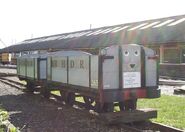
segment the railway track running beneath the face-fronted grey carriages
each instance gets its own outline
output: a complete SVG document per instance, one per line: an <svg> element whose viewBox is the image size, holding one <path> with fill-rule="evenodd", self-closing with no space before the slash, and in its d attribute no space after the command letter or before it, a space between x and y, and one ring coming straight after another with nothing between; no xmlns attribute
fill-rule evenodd
<svg viewBox="0 0 185 132"><path fill-rule="evenodd" d="M6 77L0 77L0 81L7 84L7 85L10 85L11 87L14 87L18 90L22 90L24 91L25 90L25 85L20 83L20 82L17 82L17 81L14 81L12 79L9 79L7 78L8 76ZM61 103L64 104L62 101L61 101L61 98L60 96L57 96L57 95L53 95L51 96L50 100L52 103L60 106ZM75 102L74 106L75 109L79 109L83 112L87 112L87 113L90 113L89 115L91 116L94 116L95 118L97 118L97 120L99 120L100 118L98 117L99 114L96 113L96 112L92 112L89 110L86 110L85 109L85 105L81 102ZM100 123L105 124L105 125L110 125L110 126L115 126L115 127L118 127L120 128L121 130L126 130L126 131L130 131L130 132L143 132L143 131L150 131L150 132L153 132L153 131L158 131L158 132L183 132L183 130L180 130L180 129L177 129L177 128L174 128L174 127L170 127L170 126L167 126L167 125L163 125L163 124L159 124L159 123L155 123L155 122L149 122L149 121L143 121L143 122L134 122L134 123L118 123L118 124L108 124L106 122L104 122L104 120L100 120Z"/></svg>

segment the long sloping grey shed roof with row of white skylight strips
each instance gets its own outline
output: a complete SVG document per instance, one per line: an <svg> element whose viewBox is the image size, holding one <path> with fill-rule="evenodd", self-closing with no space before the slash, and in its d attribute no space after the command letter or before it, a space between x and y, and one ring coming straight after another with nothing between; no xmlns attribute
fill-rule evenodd
<svg viewBox="0 0 185 132"><path fill-rule="evenodd" d="M27 50L100 48L114 44L161 44L185 42L185 15L126 23L71 33L28 39L1 49Z"/></svg>

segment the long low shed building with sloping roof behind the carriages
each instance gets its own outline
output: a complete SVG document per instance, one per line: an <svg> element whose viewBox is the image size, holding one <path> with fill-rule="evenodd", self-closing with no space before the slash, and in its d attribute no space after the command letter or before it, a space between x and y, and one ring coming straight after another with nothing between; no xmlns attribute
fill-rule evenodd
<svg viewBox="0 0 185 132"><path fill-rule="evenodd" d="M0 53L68 49L93 53L110 45L131 43L157 52L161 76L185 78L185 15L28 39L0 49Z"/></svg>

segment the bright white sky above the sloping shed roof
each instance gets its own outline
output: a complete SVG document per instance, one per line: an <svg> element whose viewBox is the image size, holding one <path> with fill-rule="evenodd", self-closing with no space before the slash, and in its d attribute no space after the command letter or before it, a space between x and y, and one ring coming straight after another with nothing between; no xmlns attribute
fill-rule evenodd
<svg viewBox="0 0 185 132"><path fill-rule="evenodd" d="M0 39L8 46L90 24L97 28L182 15L184 5L183 0L0 0Z"/></svg>

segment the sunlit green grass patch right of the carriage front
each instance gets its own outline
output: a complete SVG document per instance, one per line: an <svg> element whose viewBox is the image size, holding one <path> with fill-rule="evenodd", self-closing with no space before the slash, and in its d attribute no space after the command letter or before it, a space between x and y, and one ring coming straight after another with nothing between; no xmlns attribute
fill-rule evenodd
<svg viewBox="0 0 185 132"><path fill-rule="evenodd" d="M155 108L157 119L152 121L185 130L185 97L162 95L157 99L141 99L139 108Z"/></svg>

